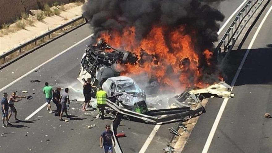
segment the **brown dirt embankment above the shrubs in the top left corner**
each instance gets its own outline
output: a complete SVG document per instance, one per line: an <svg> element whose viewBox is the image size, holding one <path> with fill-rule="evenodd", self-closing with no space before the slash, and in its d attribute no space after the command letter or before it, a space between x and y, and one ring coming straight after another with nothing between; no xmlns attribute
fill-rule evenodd
<svg viewBox="0 0 272 153"><path fill-rule="evenodd" d="M58 2L70 3L76 0L0 0L0 25L4 23L12 23L22 12L31 13L29 10L43 9L47 3L50 6ZM84 0L83 0L84 1Z"/></svg>

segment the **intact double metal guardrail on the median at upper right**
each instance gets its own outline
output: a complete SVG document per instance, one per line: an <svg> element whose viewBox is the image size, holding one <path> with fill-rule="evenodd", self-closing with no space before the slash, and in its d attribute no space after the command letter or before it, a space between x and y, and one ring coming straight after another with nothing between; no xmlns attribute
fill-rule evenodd
<svg viewBox="0 0 272 153"><path fill-rule="evenodd" d="M230 27L225 32L222 39L219 41L219 44L216 47L218 53L227 52L233 48L242 30L249 22L251 17L255 14L257 9L261 6L263 1L264 0L249 0L245 4L244 8L238 13Z"/></svg>

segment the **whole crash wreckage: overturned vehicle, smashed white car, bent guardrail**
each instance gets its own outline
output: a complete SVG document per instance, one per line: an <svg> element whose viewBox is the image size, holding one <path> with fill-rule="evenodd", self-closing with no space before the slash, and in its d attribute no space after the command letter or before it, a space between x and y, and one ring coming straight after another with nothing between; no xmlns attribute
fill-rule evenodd
<svg viewBox="0 0 272 153"><path fill-rule="evenodd" d="M202 106L204 98L232 98L231 87L225 82L213 84L204 89L186 90L169 99L169 108L149 110L145 92L133 79L121 75L118 64L134 64L138 57L129 51L114 49L103 39L97 45L88 45L81 59L78 80L82 83L91 78L96 88L92 88L95 98L97 87L102 86L107 92L107 105L115 112L150 124L165 124L174 121L185 121L205 113ZM157 83L147 87L158 90ZM148 92L151 92L148 91Z"/></svg>

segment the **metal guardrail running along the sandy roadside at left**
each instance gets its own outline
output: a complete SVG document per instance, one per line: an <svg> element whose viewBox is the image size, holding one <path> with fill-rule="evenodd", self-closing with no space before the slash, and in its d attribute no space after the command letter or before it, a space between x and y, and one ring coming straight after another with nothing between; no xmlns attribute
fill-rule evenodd
<svg viewBox="0 0 272 153"><path fill-rule="evenodd" d="M35 45L36 45L36 43L37 43L38 40L40 40L40 39L42 39L42 38L44 38L46 36L48 36L50 38L50 34L52 34L53 32L56 32L56 31L58 31L60 29L63 29L64 27L66 27L66 26L68 26L70 24L74 24L74 22L76 22L76 21L78 21L80 19L84 19L83 16L79 16L78 18L75 18L75 19L73 19L72 21L70 21L68 23L60 25L57 28L54 28L54 29L50 30L49 32L46 32L46 33L44 33L44 34L42 34L42 35L40 35L40 36L38 36L38 37L36 37L36 38L34 38L32 40L29 40L29 41L23 43L22 45L19 45L19 46L15 47L14 49L11 49L10 51L8 51L6 53L3 53L2 55L0 55L0 60L1 59L5 60L6 56L8 56L8 55L10 55L12 53L15 53L18 50L19 50L19 53L21 53L23 47L26 47L26 46L28 46L28 45L30 45L32 43L35 43Z"/></svg>

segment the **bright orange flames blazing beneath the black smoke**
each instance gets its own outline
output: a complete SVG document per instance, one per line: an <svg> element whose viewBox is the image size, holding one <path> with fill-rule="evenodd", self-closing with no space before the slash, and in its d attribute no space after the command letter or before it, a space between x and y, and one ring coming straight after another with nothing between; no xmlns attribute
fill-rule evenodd
<svg viewBox="0 0 272 153"><path fill-rule="evenodd" d="M104 38L114 48L128 50L142 57L143 63L125 65L126 70L121 75L146 73L150 78L156 77L160 84L173 88L202 87L204 84L200 79L199 55L195 52L190 36L194 33L185 34L184 29L185 26L171 30L154 26L145 38L137 40L135 28L130 27L122 32L102 32L100 38ZM142 51L148 57L142 56ZM212 52L205 50L203 55L210 65Z"/></svg>

